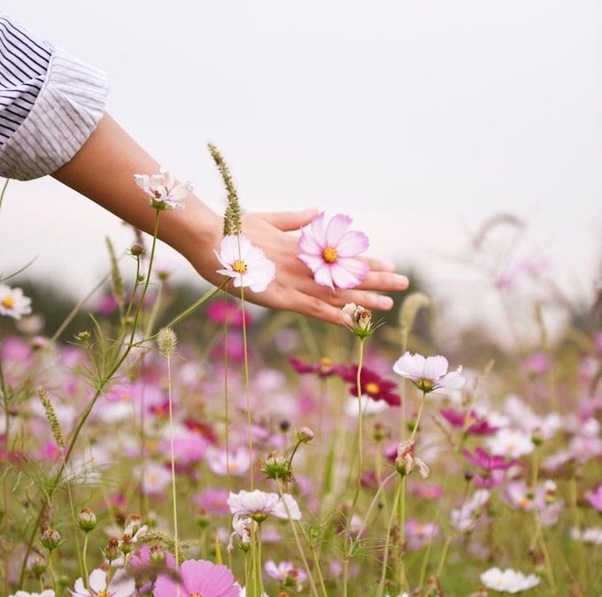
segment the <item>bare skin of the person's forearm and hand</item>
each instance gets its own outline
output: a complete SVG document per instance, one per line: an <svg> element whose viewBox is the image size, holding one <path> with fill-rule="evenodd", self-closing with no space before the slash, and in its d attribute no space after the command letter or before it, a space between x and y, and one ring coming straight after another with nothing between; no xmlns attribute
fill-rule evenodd
<svg viewBox="0 0 602 597"><path fill-rule="evenodd" d="M134 174L158 172L157 161L105 113L73 159L52 176L133 226L152 233L155 210L135 185ZM184 210L161 212L158 238L185 256L203 278L219 286L224 278L216 273L220 264L212 249L220 247L221 218L196 195L189 195L182 203ZM297 235L292 232L311 222L317 213L312 209L243 216L243 233L276 265L276 278L267 289L253 293L246 288L245 300L337 325L351 325L350 316L341 310L347 302L370 310L390 310L393 301L379 293L404 290L408 280L387 262L366 259L370 272L353 289L333 292L316 284L312 272L297 257ZM228 288L240 295L239 289L231 285Z"/></svg>

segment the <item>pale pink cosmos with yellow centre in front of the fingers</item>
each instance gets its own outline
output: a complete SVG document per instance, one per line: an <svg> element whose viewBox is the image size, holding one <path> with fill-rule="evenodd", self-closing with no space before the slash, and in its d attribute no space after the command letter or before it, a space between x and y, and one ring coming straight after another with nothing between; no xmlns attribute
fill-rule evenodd
<svg viewBox="0 0 602 597"><path fill-rule="evenodd" d="M354 259L368 248L368 237L348 230L351 218L337 214L324 226L324 213L313 218L299 237L299 259L313 272L321 286L352 288L366 278L368 264Z"/></svg>

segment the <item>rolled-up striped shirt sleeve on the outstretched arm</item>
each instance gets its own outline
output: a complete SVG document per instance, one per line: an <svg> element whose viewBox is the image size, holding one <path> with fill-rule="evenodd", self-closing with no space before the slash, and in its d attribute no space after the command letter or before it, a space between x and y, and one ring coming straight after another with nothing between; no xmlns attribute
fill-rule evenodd
<svg viewBox="0 0 602 597"><path fill-rule="evenodd" d="M65 165L104 114L106 75L0 14L0 176Z"/></svg>

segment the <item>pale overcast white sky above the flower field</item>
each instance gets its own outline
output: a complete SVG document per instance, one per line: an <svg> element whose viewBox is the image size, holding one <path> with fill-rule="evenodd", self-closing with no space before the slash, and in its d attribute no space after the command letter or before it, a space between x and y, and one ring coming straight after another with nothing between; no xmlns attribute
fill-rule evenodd
<svg viewBox="0 0 602 597"><path fill-rule="evenodd" d="M4 0L3 10L109 73L108 110L215 209L210 140L246 210L349 213L374 255L414 264L452 302L466 304L472 282L449 256L500 211L529 220L529 251L552 260L560 284L591 294L602 245L595 0ZM104 272L107 233L127 246L116 218L57 182L14 183L0 269L39 256L32 274L81 296Z"/></svg>

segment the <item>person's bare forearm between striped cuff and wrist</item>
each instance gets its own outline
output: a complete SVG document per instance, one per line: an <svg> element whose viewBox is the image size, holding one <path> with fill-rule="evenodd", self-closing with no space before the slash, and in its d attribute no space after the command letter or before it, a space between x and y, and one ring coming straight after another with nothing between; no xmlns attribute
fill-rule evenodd
<svg viewBox="0 0 602 597"><path fill-rule="evenodd" d="M155 210L135 185L134 174L158 171L157 161L104 114L80 151L52 176L133 226L152 233ZM210 249L219 241L220 217L195 195L182 203L186 205L184 210L161 212L158 237L194 261L200 248Z"/></svg>

